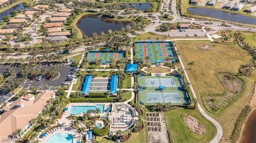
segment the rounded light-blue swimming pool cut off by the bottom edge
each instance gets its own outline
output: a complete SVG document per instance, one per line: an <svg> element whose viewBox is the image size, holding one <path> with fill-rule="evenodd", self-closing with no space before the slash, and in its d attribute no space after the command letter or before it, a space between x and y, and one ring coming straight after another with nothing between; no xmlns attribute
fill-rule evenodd
<svg viewBox="0 0 256 143"><path fill-rule="evenodd" d="M74 139L70 133L62 131L51 135L45 143L74 143Z"/></svg>

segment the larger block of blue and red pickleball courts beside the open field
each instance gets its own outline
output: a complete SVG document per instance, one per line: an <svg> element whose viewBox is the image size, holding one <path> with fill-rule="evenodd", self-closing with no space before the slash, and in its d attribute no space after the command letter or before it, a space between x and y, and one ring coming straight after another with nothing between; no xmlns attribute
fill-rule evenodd
<svg viewBox="0 0 256 143"><path fill-rule="evenodd" d="M166 63L166 57L170 57L170 61L168 62L175 62L175 59L177 59L176 62L179 62L172 42L137 41L135 43L135 47L135 55L137 57L143 58L141 63ZM144 59L146 56L150 57L149 61Z"/></svg>

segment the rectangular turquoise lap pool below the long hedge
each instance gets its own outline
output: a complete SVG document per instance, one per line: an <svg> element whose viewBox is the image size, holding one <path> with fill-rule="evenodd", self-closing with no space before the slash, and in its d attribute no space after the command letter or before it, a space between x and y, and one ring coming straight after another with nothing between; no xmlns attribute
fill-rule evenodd
<svg viewBox="0 0 256 143"><path fill-rule="evenodd" d="M87 113L88 110L95 110L96 108L99 108L101 113L103 113L104 106L103 104L96 104L96 106L71 106L69 114L83 114Z"/></svg>

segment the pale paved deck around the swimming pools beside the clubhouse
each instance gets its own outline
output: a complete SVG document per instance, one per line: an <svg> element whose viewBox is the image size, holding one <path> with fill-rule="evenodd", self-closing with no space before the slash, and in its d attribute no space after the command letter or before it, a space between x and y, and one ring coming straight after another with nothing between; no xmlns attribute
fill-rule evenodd
<svg viewBox="0 0 256 143"><path fill-rule="evenodd" d="M42 135L42 133L45 131L41 131L38 135L38 140L40 143L46 143L46 140L50 137L50 135L60 132L60 131L65 131L67 133L70 133L73 135L74 137L74 143L76 143L76 141L80 141L79 139L82 138L82 133L79 133L76 129L72 129L70 128L70 125L72 125L72 121L68 120L68 116L69 116L69 112L70 112L70 108L71 106L95 106L96 104L104 104L104 110L106 108L109 107L110 103L70 103L68 104L66 107L68 108L68 110L66 112L63 112L62 114L62 118L58 119L58 123L57 125L59 125L58 129L56 129L56 131L54 131L53 133L50 133L48 135L46 135L46 137L42 138L40 137L40 135ZM100 116L106 116L107 112L101 113ZM82 114L78 114L77 116L82 116ZM94 114L92 114L92 116L94 116ZM103 121L96 121L96 123L102 123L102 125L104 125ZM53 126L53 125L52 125ZM86 130L87 131L87 130ZM86 134L86 131L84 132L84 134ZM86 136L87 140L88 140L88 135ZM90 141L87 141L87 143L90 143Z"/></svg>

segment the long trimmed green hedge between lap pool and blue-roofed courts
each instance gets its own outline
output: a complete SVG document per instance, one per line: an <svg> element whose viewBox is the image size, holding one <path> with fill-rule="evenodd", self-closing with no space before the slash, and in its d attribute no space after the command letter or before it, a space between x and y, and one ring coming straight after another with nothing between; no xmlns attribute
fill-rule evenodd
<svg viewBox="0 0 256 143"><path fill-rule="evenodd" d="M113 102L113 98L69 98L70 102Z"/></svg>

